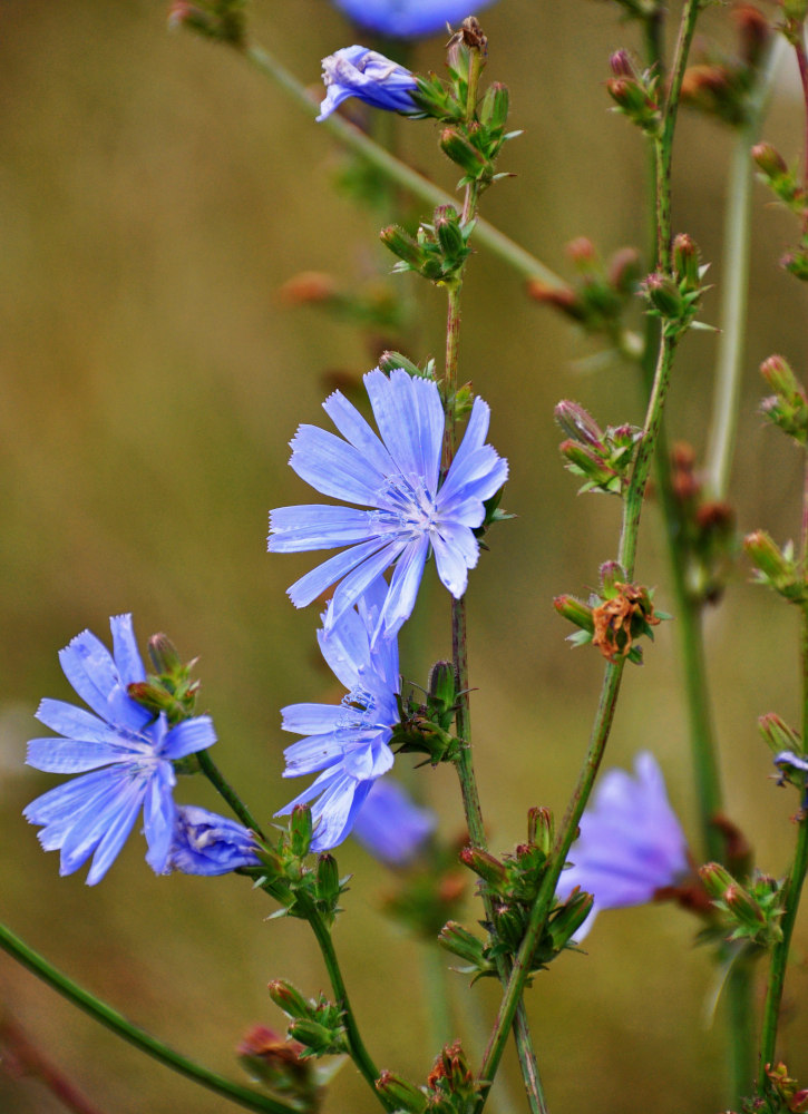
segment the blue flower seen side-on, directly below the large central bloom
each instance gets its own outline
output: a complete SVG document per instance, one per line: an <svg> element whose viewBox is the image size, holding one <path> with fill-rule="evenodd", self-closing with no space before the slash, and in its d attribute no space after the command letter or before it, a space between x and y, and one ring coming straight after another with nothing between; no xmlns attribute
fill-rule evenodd
<svg viewBox="0 0 808 1114"><path fill-rule="evenodd" d="M290 704L281 713L284 731L306 735L286 747L283 776L300 778L322 770L278 813L286 815L295 804L314 802L312 851L327 851L342 842L373 782L392 765L388 742L399 720L398 645L395 638L378 638L371 645L383 600L382 580L330 631L318 632L323 657L350 690L342 703Z"/></svg>

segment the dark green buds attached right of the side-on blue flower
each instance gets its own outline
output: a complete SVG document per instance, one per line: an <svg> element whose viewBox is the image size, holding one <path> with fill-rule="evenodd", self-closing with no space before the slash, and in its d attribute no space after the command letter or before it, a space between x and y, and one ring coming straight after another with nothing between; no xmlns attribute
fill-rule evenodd
<svg viewBox="0 0 808 1114"><path fill-rule="evenodd" d="M390 745L405 754L426 754L432 765L454 762L460 742L449 731L457 711L457 684L451 662L436 662L429 671L426 701L413 694L398 697L399 723Z"/></svg>

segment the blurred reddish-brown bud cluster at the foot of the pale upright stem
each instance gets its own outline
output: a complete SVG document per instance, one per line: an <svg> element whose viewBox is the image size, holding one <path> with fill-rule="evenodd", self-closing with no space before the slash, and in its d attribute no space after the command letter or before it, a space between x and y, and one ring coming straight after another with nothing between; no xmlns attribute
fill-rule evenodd
<svg viewBox="0 0 808 1114"><path fill-rule="evenodd" d="M671 453L671 495L688 594L697 604L717 603L738 550L734 511L705 496L695 453L684 442Z"/></svg>

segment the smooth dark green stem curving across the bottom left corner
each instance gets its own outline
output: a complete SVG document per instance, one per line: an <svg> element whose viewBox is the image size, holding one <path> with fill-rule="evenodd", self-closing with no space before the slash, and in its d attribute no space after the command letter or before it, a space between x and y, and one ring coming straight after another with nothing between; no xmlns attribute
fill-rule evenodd
<svg viewBox="0 0 808 1114"><path fill-rule="evenodd" d="M61 994L68 1001L71 1001L74 1006L84 1009L86 1014L100 1022L101 1025L106 1025L108 1029L123 1037L124 1040L128 1040L129 1044L135 1045L140 1052L158 1059L160 1064L165 1064L172 1071L187 1076L194 1083L198 1083L201 1086L207 1087L208 1091L213 1091L215 1094L222 1095L223 1098L227 1098L230 1102L244 1106L250 1111L265 1112L265 1114L290 1114L293 1111L293 1107L286 1106L284 1103L270 1098L267 1095L263 1095L250 1087L231 1083L230 1079L225 1079L214 1072L208 1072L207 1068L174 1052L173 1048L169 1048L160 1040L157 1040L148 1033L133 1025L117 1009L113 1009L111 1006L108 1006L105 1001L100 1001L95 995L85 990L77 983L74 983L67 975L64 975L49 964L43 956L29 948L27 944L4 925L0 925L0 948Z"/></svg>

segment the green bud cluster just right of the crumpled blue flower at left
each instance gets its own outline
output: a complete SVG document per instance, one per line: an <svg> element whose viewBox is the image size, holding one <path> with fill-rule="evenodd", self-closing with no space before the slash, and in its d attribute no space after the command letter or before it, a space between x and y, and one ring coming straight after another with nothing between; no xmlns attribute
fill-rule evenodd
<svg viewBox="0 0 808 1114"><path fill-rule="evenodd" d="M315 867L305 866L312 834L311 809L298 804L276 846L256 839L261 866L254 871L255 885L281 905L275 917L309 920L317 913L331 925L340 912L340 895L348 888L350 876L340 878L337 860L328 852L318 856Z"/></svg>

